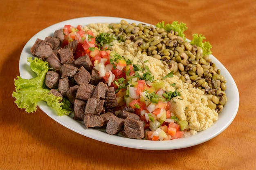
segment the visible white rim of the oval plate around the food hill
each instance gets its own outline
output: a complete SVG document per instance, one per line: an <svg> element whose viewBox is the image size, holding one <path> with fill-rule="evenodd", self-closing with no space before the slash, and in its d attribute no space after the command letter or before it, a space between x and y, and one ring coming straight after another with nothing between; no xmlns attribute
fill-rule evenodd
<svg viewBox="0 0 256 170"><path fill-rule="evenodd" d="M56 29L63 28L63 26L65 24L69 24L69 23L77 23L77 24L81 24L81 25L85 26L90 23L99 23L99 21L101 21L101 20L104 21L105 23L106 22L110 23L112 21L120 22L121 20L126 20L129 23L130 22L145 23L145 22L140 22L137 20L131 20L131 19L121 18L121 17L91 16L91 17L79 17L79 18L74 18L74 19L70 19L70 20L65 20L65 21L53 24L51 26L48 26L48 27L44 28L43 30L39 31L38 33L36 33L33 37L31 37L31 39L29 39L29 41L27 41L24 48L22 49L22 52L20 54L20 61L19 61L20 76L22 78L27 78L27 79L33 77L33 73L30 70L29 63L27 63L27 57L32 56L32 54L30 54L30 51L29 51L31 44L32 45L34 44L36 38L43 36L41 34L48 33L48 35L44 35L45 37L47 37L50 34L53 34ZM85 22L86 24L81 23L81 21ZM97 21L97 22L91 22L91 21ZM104 23L104 22L101 22L101 23ZM148 23L145 23L145 24L148 24ZM152 24L148 24L148 25L152 25ZM59 27L59 28L57 28L57 27ZM54 28L54 29L52 29L52 28ZM51 33L48 32L48 30L50 30L50 29L52 29ZM45 38L45 37L43 37L43 38ZM211 57L211 59L213 59L213 62L216 63L216 65L218 66L218 68L220 68L221 71L224 70L225 78L227 78L227 77L229 78L229 82L227 82L227 86L232 87L232 89L226 90L226 92L232 91L232 93L231 92L227 93L231 97L231 98L228 97L228 99L229 98L231 99L231 103L229 100L227 105L225 105L223 111L227 110L227 107L228 107L233 110L233 114L231 114L231 116L225 115L225 118L227 117L229 119L227 120L227 122L225 123L224 126L217 127L217 129L218 129L217 131L214 130L213 128L216 126L216 124L218 124L218 120L216 122L214 122L214 124L211 127L209 127L208 129L198 132L198 134L196 134L196 135L184 137L181 139L173 139L173 140L169 140L169 141L148 141L148 140L142 140L142 139L140 139L140 140L139 139L129 139L129 138L120 137L117 135L109 135L107 133L101 132L96 129L85 129L84 125L83 125L84 127L81 126L82 125L81 123L70 118L69 116L57 116L55 111L53 109L49 108L45 102L38 102L38 107L44 113L46 113L50 118L52 118L59 124L65 126L67 129L70 129L76 133L79 133L79 134L89 137L91 139L95 139L95 140L98 140L98 141L101 141L104 143L108 143L108 144L112 144L112 145L116 145L116 146L122 146L122 147L126 147L126 148L143 149L143 150L173 150L173 149L188 148L191 146L196 146L198 144L202 144L204 142L207 142L207 141L213 139L214 137L216 137L217 135L219 135L220 133L225 131L225 129L227 129L227 127L231 124L231 122L233 122L233 120L236 117L236 114L238 112L238 108L239 108L240 98L239 98L239 92L238 92L236 83L234 81L234 78L231 76L229 71L224 67L224 65L222 63L220 63L220 61L218 61L218 59L216 57L214 57L213 55L211 55L210 57ZM230 106L231 104L235 105L235 107ZM222 114L223 111L220 114ZM219 120L220 120L220 116L222 116L222 115L219 115ZM69 118L71 120L69 120L67 118ZM69 121L68 124L66 123L66 121ZM211 133L211 135L209 135L209 134L205 135L206 132ZM97 135L100 135L100 136L97 136ZM200 140L195 140L195 137L199 137L199 138L202 137L202 138L200 138ZM190 143L187 142L188 140ZM176 142L176 141L178 141L178 142Z"/></svg>

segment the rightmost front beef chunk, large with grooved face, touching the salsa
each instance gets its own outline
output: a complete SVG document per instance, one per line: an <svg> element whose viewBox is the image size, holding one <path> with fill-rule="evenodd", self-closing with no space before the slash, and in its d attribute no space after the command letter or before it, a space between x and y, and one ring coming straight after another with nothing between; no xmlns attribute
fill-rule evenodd
<svg viewBox="0 0 256 170"><path fill-rule="evenodd" d="M126 118L124 120L124 133L132 139L141 139L145 137L144 134L145 122Z"/></svg>

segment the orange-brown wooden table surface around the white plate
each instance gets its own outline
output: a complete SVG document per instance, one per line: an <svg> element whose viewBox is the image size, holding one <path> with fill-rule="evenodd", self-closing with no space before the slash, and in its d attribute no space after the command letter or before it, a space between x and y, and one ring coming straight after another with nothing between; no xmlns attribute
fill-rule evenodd
<svg viewBox="0 0 256 170"><path fill-rule="evenodd" d="M77 17L184 22L186 37L205 35L240 94L231 125L217 137L177 150L138 150L90 139L38 109L18 109L11 94L26 42L43 28ZM83 23L81 23L83 24ZM0 169L169 170L256 168L256 2L254 0L4 0L0 4Z"/></svg>

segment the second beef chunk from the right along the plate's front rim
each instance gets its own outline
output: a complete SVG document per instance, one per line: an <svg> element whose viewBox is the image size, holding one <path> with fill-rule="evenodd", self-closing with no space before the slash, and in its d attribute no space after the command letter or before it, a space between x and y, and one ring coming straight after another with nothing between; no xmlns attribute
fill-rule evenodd
<svg viewBox="0 0 256 170"><path fill-rule="evenodd" d="M111 116L108 120L106 132L110 135L117 134L124 125L124 119L117 116Z"/></svg>

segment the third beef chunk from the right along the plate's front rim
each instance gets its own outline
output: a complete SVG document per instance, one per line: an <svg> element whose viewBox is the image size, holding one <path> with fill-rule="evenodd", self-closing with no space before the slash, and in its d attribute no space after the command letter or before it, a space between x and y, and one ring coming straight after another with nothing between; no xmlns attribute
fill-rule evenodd
<svg viewBox="0 0 256 170"><path fill-rule="evenodd" d="M104 123L103 118L101 118L98 115L94 115L94 114L90 114L90 113L84 115L83 122L84 122L86 128L101 127L101 126L103 126L103 123Z"/></svg>

